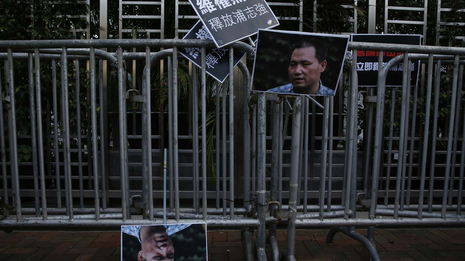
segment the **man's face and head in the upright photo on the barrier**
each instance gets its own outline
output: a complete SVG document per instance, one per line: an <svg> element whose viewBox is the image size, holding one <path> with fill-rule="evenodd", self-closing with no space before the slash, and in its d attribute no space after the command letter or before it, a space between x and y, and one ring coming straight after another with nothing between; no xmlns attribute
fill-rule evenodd
<svg viewBox="0 0 465 261"><path fill-rule="evenodd" d="M294 91L303 94L316 94L319 78L326 68L326 60L319 62L313 46L294 49L289 62L289 80Z"/></svg>

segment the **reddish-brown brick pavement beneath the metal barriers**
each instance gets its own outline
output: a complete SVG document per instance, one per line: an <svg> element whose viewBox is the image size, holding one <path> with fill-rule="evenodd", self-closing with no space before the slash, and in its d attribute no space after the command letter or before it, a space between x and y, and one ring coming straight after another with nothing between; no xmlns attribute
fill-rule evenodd
<svg viewBox="0 0 465 261"><path fill-rule="evenodd" d="M299 261L368 260L363 246L345 235L336 235L334 243L326 244L327 231L297 231L295 249ZM365 234L366 230L359 232ZM207 236L208 260L244 259L239 231L208 231ZM278 230L277 239L280 248L285 249L286 230ZM384 261L465 260L465 228L377 229L376 245ZM120 260L120 233L0 232L0 260Z"/></svg>

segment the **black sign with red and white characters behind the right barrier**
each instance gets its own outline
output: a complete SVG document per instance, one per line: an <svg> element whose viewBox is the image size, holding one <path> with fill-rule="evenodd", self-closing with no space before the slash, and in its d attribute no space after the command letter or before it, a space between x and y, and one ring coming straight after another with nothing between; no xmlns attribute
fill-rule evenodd
<svg viewBox="0 0 465 261"><path fill-rule="evenodd" d="M352 41L365 43L421 45L419 34L352 34ZM404 54L403 52L383 52L383 67L392 58ZM357 76L359 86L376 86L378 78L378 56L376 51L357 51ZM407 65L405 65L407 66ZM410 84L418 84L420 62L412 62L412 78ZM386 86L402 86L404 62L392 66L386 78Z"/></svg>

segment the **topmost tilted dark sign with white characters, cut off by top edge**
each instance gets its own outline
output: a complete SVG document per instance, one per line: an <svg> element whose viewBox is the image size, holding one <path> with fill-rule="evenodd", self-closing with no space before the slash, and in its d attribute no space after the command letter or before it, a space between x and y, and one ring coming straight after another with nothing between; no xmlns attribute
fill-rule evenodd
<svg viewBox="0 0 465 261"><path fill-rule="evenodd" d="M216 46L223 47L279 26L265 0L189 0Z"/></svg>

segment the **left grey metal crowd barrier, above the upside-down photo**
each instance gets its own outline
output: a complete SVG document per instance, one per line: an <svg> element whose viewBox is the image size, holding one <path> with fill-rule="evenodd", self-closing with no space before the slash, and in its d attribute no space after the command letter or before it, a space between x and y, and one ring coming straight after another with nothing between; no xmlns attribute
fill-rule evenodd
<svg viewBox="0 0 465 261"><path fill-rule="evenodd" d="M178 51L177 48L195 47L201 49L202 68L200 71L201 79L198 79L197 69L193 66L193 95L192 95L192 113L193 113L193 130L199 130L199 113L198 113L198 98L201 104L201 136L199 137L198 131L193 131L193 208L181 208L179 204L179 136L178 136ZM259 230L259 243L257 244L258 256L260 259L266 259L265 255L265 196L259 194L258 198L251 200L250 193L250 171L244 173L244 184L242 184L246 193L244 193L244 200L241 205L234 204L234 153L233 153L233 133L234 133L234 95L233 95L233 52L241 50L247 53L252 53L253 49L244 43L236 43L229 47L229 80L228 85L224 86L222 93L219 91L220 83L216 83L216 95L222 95L223 108L222 113L219 108L219 103L216 106L217 121L219 123L219 116L222 115L222 135L219 138L219 128L216 132L216 153L217 153L217 166L222 167L222 172L216 172L216 205L215 207L207 206L207 163L206 163L206 48L214 48L211 40L181 40L181 39L149 39L149 40L56 40L56 41L0 41L0 48L7 50L6 54L0 54L0 59L6 60L5 68L0 68L6 71L7 86L5 86L5 93L7 97L0 97L0 114L3 115L4 107L7 108L8 122L4 124L3 117L0 118L0 134L1 150L2 150L2 181L3 181L3 201L6 206L10 204L9 199L13 199L11 205L13 208L4 208L4 216L0 220L0 227L12 228L57 228L66 225L73 227L100 227L100 226L120 226L124 224L162 224L166 219L166 223L182 223L182 222L207 222L209 227L236 227L242 228L243 239L246 246L247 260L252 260L252 240L251 232L253 228ZM54 49L58 48L58 49ZM83 49L86 48L86 49ZM117 48L116 53L108 53L94 48ZM146 52L142 53L126 53L123 48L145 48ZM171 48L165 49L160 52L152 53L151 49ZM180 55L179 55L180 56ZM181 56L182 57L182 56ZM152 168L147 166L156 166L152 162L153 149L152 138L153 133L151 130L151 67L160 59L168 59L168 133L169 133L169 146L168 146L168 181L169 191L164 190L164 202L166 202L166 194L169 198L169 207L166 209L154 207L153 202L153 175ZM32 148L33 148L33 180L34 180L34 207L24 207L21 202L21 183L20 172L18 163L18 146L17 146L17 131L15 120L15 60L27 60L28 74L29 74L29 88L30 88L30 110L31 113L31 133L32 133ZM143 71L143 81L141 93L138 94L137 90L128 90L126 88L126 62L127 59L141 59L145 60L146 65ZM90 82L90 105L91 105L91 126L88 130L88 139L91 140L91 148L87 148L86 152L92 151L92 174L93 180L93 196L94 207L84 208L83 204L83 177L82 177L82 164L79 160L79 171L72 169L72 162L70 159L70 139L76 136L70 135L73 131L70 130L69 116L70 116L70 101L77 99L79 106L79 97L72 97L69 93L68 81L70 71L68 70L68 63L74 61L77 68L79 68L80 61L89 61L89 82ZM99 67L96 67L96 60L99 60ZM117 72L118 83L118 107L119 107L119 142L120 142L120 191L121 191L121 208L107 208L106 206L106 182L105 176L105 147L103 137L107 135L104 132L102 118L106 104L104 104L104 90L103 90L103 69L102 60L108 61L112 65L112 69ZM57 61L60 65L60 77L57 78L56 67ZM55 157L55 174L56 174L56 189L46 189L44 171L44 133L42 121L38 120L42 117L41 112L41 63L51 62L52 65L52 84L53 88L53 139L54 139L54 157ZM33 70L35 65L35 71ZM244 85L250 85L250 75L246 65L239 62L239 70L244 78ZM99 71L98 71L99 70ZM96 77L99 75L99 78ZM35 79L34 79L35 73ZM76 93L80 93L80 72L76 70ZM61 82L61 97L60 91L57 89L57 80ZM35 85L34 85L35 80ZM0 83L1 73L0 73ZM200 95L198 89L200 88ZM97 90L99 89L99 90ZM126 98L131 92L136 92L136 95L130 100L132 102L140 102L142 114L142 195L133 195L130 193L129 183L129 170L128 170L128 134L127 134L127 111L126 111ZM99 93L100 104L97 104L96 94ZM244 102L244 109L247 111L244 120L244 131L250 133L250 125L248 116L248 100L250 93L247 93ZM228 101L226 102L226 98ZM241 101L242 102L242 101ZM60 110L61 104L61 110ZM226 106L228 114L226 114ZM100 107L100 129L97 125L97 106ZM35 117L37 111L37 117ZM59 113L55 113L59 112ZM60 115L59 115L60 114ZM61 118L59 118L61 117ZM80 115L78 107L78 133L80 132ZM62 130L58 129L58 121ZM226 128L226 122L229 121ZM35 124L37 123L37 129ZM6 150L4 131L5 126L8 128L8 144L9 150ZM226 131L227 130L227 131ZM101 131L101 132L99 132ZM228 132L228 133L227 133ZM46 133L47 135L50 133ZM226 134L228 136L226 136ZM45 135L45 136L47 136ZM80 139L81 135L77 135ZM100 147L98 146L98 138L100 138ZM199 146L199 138L201 139ZM250 144L248 139L249 135L245 136L244 143ZM60 148L60 143L63 147ZM80 140L78 141L80 144ZM229 154L226 154L226 143L229 143ZM220 151L222 147L222 151ZM201 155L199 153L201 151ZM83 150L77 151L79 155ZM219 162L219 153L222 152L222 163ZM245 147L244 161L246 165L250 165L250 147ZM61 154L61 155L60 155ZM99 155L100 154L100 155ZM9 157L8 157L9 156ZM229 157L228 157L229 156ZM200 161L199 161L200 157ZM7 171L7 158L9 158L9 165L11 170ZM38 159L38 160L37 160ZM63 162L60 162L60 159ZM228 160L229 162L226 162ZM161 163L158 164L162 164ZM39 165L39 166L38 166ZM63 166L64 176L60 175L60 166ZM199 171L201 167L201 172ZM226 170L228 168L228 170ZM76 173L78 172L78 173ZM226 173L229 176L226 176ZM201 173L201 175L200 175ZM79 174L79 176L78 176ZM223 176L221 177L220 174ZM89 174L90 175L90 174ZM248 176L247 176L248 175ZM264 180L264 177L259 174L258 180ZM64 179L65 188L60 187ZM76 184L73 185L73 180L79 180L79 190L76 190ZM222 180L222 188L220 188L220 180ZM228 187L227 180L229 180ZM40 183L39 183L40 181ZM199 184L201 181L201 185ZM11 182L11 186L10 186ZM40 184L40 185L39 185ZM264 184L260 183L261 189L264 190ZM260 186L259 186L260 188ZM229 191L228 191L229 190ZM201 195L199 195L201 192ZM227 193L229 192L229 193ZM56 195L53 199L52 193ZM220 194L222 193L222 195ZM227 193L227 194L226 194ZM65 198L65 207L61 205L62 198ZM79 198L80 205L76 208L75 199ZM222 205L220 204L222 198ZM199 205L199 201L201 205ZM262 206L258 208L258 216L256 218L250 214L252 209L252 201L257 202ZM54 203L50 203L54 202ZM39 204L41 203L41 206ZM243 203L243 205L242 205ZM141 212L140 212L141 211ZM10 216L11 215L11 216ZM163 219L162 219L163 218ZM66 221L66 222L63 222Z"/></svg>

